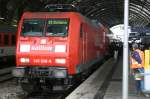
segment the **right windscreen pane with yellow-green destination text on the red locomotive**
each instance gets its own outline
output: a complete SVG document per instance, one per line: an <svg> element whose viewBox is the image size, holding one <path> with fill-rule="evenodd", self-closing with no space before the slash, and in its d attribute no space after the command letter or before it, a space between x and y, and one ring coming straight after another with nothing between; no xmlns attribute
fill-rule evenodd
<svg viewBox="0 0 150 99"><path fill-rule="evenodd" d="M46 36L67 36L68 19L49 19L47 21Z"/></svg>

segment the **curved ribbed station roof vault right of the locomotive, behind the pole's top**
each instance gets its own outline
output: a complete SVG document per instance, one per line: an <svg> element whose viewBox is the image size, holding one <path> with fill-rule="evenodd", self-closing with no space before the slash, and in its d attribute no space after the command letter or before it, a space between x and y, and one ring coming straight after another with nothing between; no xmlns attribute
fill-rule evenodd
<svg viewBox="0 0 150 99"><path fill-rule="evenodd" d="M69 0L68 0L69 2ZM124 21L124 0L75 0L88 17L100 20L109 27ZM129 0L129 25L145 27L150 24L150 0Z"/></svg>

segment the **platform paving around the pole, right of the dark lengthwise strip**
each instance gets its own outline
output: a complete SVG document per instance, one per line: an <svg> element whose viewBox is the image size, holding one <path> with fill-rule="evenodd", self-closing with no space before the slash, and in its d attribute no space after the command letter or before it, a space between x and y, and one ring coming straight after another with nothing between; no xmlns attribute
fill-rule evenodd
<svg viewBox="0 0 150 99"><path fill-rule="evenodd" d="M103 99L122 99L122 58L117 61L117 68L112 76ZM144 94L136 93L135 80L129 75L128 99L149 99Z"/></svg>

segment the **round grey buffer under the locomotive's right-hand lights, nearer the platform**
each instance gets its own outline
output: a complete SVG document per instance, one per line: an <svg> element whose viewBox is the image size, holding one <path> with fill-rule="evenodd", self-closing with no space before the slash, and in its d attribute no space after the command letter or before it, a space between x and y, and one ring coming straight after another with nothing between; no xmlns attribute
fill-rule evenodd
<svg viewBox="0 0 150 99"><path fill-rule="evenodd" d="M67 77L67 71L66 69L57 69L53 71L53 76L56 78L66 78Z"/></svg>

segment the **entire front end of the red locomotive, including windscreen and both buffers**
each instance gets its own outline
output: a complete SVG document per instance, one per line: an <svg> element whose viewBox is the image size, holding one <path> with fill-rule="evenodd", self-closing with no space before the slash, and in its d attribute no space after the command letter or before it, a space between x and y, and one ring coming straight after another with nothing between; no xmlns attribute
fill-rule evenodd
<svg viewBox="0 0 150 99"><path fill-rule="evenodd" d="M49 86L57 84L56 80L61 84L67 82L64 79L68 78L69 67L68 28L67 18L22 19L13 75L23 86L35 82Z"/></svg>

